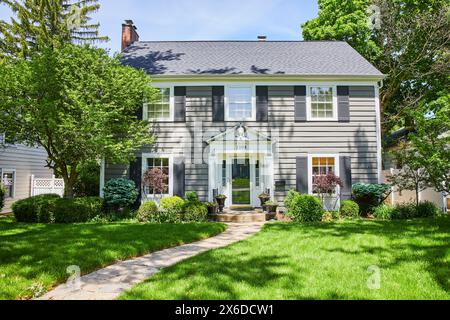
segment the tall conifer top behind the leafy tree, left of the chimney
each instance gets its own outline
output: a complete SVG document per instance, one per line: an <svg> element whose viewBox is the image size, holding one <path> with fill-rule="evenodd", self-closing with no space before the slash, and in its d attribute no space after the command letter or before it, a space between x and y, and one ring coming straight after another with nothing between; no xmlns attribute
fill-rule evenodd
<svg viewBox="0 0 450 320"><path fill-rule="evenodd" d="M107 41L90 14L98 0L0 0L13 12L10 22L0 20L0 58L29 57L33 50L65 43Z"/></svg>

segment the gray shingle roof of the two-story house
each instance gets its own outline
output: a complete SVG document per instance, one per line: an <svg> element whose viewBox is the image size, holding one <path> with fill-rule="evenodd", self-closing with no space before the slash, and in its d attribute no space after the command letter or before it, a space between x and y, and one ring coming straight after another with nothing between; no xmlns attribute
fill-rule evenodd
<svg viewBox="0 0 450 320"><path fill-rule="evenodd" d="M151 75L382 76L340 41L141 41L123 62Z"/></svg>

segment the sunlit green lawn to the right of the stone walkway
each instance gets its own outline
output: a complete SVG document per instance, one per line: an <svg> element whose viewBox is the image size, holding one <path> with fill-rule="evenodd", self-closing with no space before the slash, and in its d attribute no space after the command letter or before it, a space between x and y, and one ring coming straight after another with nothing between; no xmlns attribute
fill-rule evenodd
<svg viewBox="0 0 450 320"><path fill-rule="evenodd" d="M367 285L370 266L379 290ZM450 299L450 218L268 224L121 299Z"/></svg>

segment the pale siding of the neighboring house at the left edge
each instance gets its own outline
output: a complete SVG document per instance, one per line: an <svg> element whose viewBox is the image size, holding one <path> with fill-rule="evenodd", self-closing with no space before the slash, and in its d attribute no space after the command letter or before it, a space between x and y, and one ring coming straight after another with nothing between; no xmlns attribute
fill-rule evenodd
<svg viewBox="0 0 450 320"><path fill-rule="evenodd" d="M16 170L14 199L7 199L3 213L11 211L14 201L28 198L31 194L31 175L37 178L51 178L53 172L45 165L47 153L41 148L22 145L0 148L0 168Z"/></svg>

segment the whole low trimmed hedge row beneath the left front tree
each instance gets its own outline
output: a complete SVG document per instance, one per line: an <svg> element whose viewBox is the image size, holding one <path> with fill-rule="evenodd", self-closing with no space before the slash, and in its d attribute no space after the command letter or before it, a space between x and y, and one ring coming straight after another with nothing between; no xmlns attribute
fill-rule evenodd
<svg viewBox="0 0 450 320"><path fill-rule="evenodd" d="M101 214L103 206L99 197L62 199L58 195L41 195L19 200L12 209L18 222L81 223Z"/></svg>

